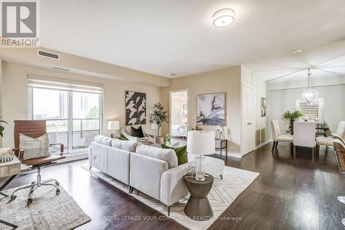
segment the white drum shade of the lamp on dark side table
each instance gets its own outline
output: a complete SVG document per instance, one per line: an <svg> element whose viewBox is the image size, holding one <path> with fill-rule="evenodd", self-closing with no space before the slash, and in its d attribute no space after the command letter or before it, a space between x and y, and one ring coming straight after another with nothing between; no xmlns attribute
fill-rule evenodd
<svg viewBox="0 0 345 230"><path fill-rule="evenodd" d="M215 153L215 133L212 131L188 131L187 152L195 155Z"/></svg>

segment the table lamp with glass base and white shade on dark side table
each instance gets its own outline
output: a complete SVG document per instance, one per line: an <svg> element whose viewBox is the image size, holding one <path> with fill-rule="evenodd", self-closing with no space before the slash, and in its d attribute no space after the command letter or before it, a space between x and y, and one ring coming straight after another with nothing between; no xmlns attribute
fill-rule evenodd
<svg viewBox="0 0 345 230"><path fill-rule="evenodd" d="M215 153L215 133L212 131L188 131L187 153L195 155L195 180L205 180L204 155Z"/></svg>

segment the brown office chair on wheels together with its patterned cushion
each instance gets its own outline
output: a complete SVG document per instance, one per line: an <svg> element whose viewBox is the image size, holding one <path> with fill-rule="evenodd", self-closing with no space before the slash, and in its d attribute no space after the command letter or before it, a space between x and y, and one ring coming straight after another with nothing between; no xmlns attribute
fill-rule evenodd
<svg viewBox="0 0 345 230"><path fill-rule="evenodd" d="M51 155L50 146L60 146L60 155ZM30 169L37 170L37 181L27 186L16 189L11 194L11 200L17 198L15 193L21 189L29 189L28 204L32 202L32 193L40 186L54 186L56 194L59 195L59 182L55 179L41 181L41 168L54 164L58 160L65 158L63 156L63 144L49 144L46 131L46 121L44 120L16 120L14 121L14 154L22 164L30 166ZM44 154L43 154L44 153ZM44 156L42 156L44 155ZM48 182L55 182L50 184Z"/></svg>

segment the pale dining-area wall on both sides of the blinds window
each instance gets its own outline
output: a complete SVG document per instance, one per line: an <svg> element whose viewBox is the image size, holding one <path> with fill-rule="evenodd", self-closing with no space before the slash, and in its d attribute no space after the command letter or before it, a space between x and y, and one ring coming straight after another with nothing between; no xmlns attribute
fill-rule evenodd
<svg viewBox="0 0 345 230"><path fill-rule="evenodd" d="M319 79L319 81L321 80ZM324 85L316 86L315 90L317 90L319 97L324 98L324 120L327 122L331 132L335 132L339 122L345 120L345 84L326 85L331 83L331 80L327 82L324 79L322 81ZM301 83L290 82L289 85L290 87L301 86ZM312 86L315 86L315 82ZM281 119L282 114L285 111L295 111L295 101L296 99L301 99L304 88L279 88L282 88L281 83L270 84L269 117L270 119L279 119L280 128L284 132L288 129L288 124Z"/></svg>

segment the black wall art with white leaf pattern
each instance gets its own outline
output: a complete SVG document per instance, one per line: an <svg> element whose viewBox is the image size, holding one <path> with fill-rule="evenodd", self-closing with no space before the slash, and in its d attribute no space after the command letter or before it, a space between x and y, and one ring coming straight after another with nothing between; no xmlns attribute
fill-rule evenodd
<svg viewBox="0 0 345 230"><path fill-rule="evenodd" d="M146 93L126 91L126 125L146 124Z"/></svg>

